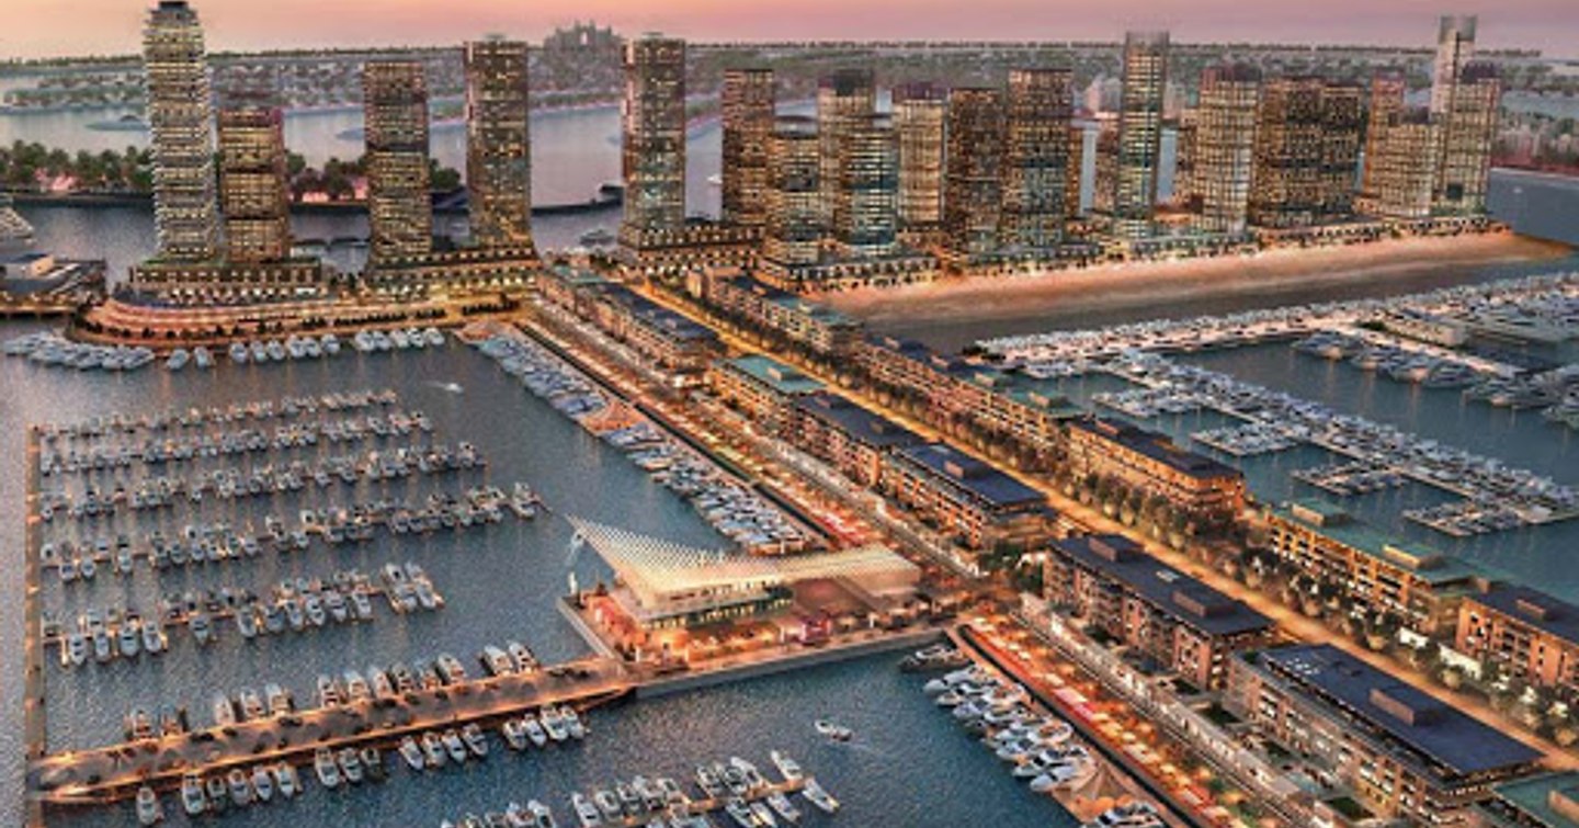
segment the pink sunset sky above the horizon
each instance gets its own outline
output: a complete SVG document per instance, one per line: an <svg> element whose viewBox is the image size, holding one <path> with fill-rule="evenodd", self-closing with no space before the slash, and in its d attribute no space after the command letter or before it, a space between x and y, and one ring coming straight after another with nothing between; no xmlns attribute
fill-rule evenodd
<svg viewBox="0 0 1579 828"><path fill-rule="evenodd" d="M144 0L0 0L0 57L129 54ZM538 40L575 19L692 40L1113 40L1426 46L1435 17L1478 11L1486 47L1579 57L1579 0L193 0L212 49L444 44L485 32Z"/></svg>

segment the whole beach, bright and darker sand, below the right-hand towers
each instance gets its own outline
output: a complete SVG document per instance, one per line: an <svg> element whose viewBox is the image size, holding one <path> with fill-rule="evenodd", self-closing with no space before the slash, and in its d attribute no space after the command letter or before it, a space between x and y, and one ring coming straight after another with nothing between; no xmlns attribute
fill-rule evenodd
<svg viewBox="0 0 1579 828"><path fill-rule="evenodd" d="M1505 265L1560 269L1574 248L1511 232L1397 239L1254 256L1127 262L1025 277L973 277L903 288L862 288L816 299L936 348L1053 327L1101 327L1118 318L1221 313L1478 281ZM1137 313L1142 311L1143 313Z"/></svg>

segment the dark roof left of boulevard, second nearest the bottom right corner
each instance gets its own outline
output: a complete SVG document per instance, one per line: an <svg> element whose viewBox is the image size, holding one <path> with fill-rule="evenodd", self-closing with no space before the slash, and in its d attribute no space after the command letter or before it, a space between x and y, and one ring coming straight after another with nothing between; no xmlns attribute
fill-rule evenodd
<svg viewBox="0 0 1579 828"><path fill-rule="evenodd" d="M1273 619L1157 561L1120 534L1067 537L1053 551L1123 583L1180 623L1208 635L1240 635L1273 627Z"/></svg>

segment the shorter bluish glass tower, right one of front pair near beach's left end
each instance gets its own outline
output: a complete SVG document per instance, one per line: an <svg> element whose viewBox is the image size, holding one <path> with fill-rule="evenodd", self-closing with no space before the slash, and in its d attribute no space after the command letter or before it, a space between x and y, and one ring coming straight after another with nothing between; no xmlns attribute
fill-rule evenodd
<svg viewBox="0 0 1579 828"><path fill-rule="evenodd" d="M838 142L834 242L840 256L891 256L898 232L898 142L887 115L845 123Z"/></svg>

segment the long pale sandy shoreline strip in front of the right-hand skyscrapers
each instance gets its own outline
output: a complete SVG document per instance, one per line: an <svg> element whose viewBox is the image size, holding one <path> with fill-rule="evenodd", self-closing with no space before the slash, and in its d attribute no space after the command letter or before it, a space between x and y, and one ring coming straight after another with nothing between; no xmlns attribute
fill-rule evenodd
<svg viewBox="0 0 1579 828"><path fill-rule="evenodd" d="M1277 250L1254 258L1104 265L1034 277L966 278L905 288L857 289L820 300L865 319L875 329L1031 319L1045 314L1153 308L1244 294L1274 295L1375 278L1424 278L1454 284L1475 269L1562 259L1568 245L1514 234L1454 239L1401 239L1320 250Z"/></svg>

